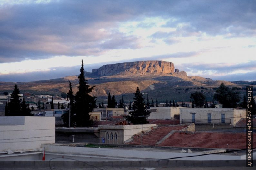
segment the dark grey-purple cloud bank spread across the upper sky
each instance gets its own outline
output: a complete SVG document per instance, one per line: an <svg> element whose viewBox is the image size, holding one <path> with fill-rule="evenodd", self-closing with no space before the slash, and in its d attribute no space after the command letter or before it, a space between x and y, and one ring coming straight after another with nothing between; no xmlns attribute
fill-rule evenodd
<svg viewBox="0 0 256 170"><path fill-rule="evenodd" d="M112 29L117 23L143 17L175 18L165 26L177 27L177 31L173 32L176 36L190 36L198 32L211 35L229 33L229 37L252 36L256 27L255 9L254 0L64 0L2 5L0 63L55 55L99 55L108 49L139 48L137 37L125 36ZM179 26L178 23L188 24ZM137 26L145 28L153 25L141 23ZM100 31L101 28L106 31ZM102 44L103 41L105 43ZM175 43L168 39L165 42Z"/></svg>

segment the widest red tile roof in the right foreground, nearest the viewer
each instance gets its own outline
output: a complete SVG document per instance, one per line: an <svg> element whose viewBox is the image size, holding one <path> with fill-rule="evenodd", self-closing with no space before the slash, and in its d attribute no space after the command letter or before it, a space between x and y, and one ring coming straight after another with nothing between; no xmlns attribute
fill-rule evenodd
<svg viewBox="0 0 256 170"><path fill-rule="evenodd" d="M256 133L253 134L253 145L256 146ZM175 132L159 145L186 148L244 149L246 148L246 133Z"/></svg>

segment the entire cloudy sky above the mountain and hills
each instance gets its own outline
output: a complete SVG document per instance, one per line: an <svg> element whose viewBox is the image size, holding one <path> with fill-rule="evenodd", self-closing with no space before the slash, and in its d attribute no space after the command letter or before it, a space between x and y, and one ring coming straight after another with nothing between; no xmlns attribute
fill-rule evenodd
<svg viewBox="0 0 256 170"><path fill-rule="evenodd" d="M0 81L104 64L174 63L189 76L256 80L255 0L0 0Z"/></svg>

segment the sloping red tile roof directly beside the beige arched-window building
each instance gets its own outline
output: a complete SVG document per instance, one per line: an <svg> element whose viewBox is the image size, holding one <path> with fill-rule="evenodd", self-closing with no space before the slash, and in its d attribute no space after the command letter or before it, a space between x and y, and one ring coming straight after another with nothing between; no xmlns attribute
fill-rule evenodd
<svg viewBox="0 0 256 170"><path fill-rule="evenodd" d="M165 137L168 133L170 133L172 130L182 130L186 128L188 125L182 125L182 126L160 126L152 131L143 134L143 145L155 145L159 140L161 140L163 137ZM131 145L141 145L141 135L134 135L133 140L126 143Z"/></svg>

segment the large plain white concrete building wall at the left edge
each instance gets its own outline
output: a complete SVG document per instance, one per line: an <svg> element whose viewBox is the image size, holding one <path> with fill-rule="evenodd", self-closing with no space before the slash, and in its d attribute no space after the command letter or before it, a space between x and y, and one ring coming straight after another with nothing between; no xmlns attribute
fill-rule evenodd
<svg viewBox="0 0 256 170"><path fill-rule="evenodd" d="M55 143L55 117L1 116L0 152L28 151Z"/></svg>

